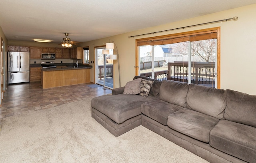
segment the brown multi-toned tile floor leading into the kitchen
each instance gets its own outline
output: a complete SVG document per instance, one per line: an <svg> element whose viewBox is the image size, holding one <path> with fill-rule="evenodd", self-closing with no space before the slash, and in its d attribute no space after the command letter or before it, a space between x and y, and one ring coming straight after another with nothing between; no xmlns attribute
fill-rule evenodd
<svg viewBox="0 0 256 163"><path fill-rule="evenodd" d="M91 83L49 89L42 89L40 82L8 85L0 107L0 119L112 92L111 89L102 86L86 86L89 84Z"/></svg>

